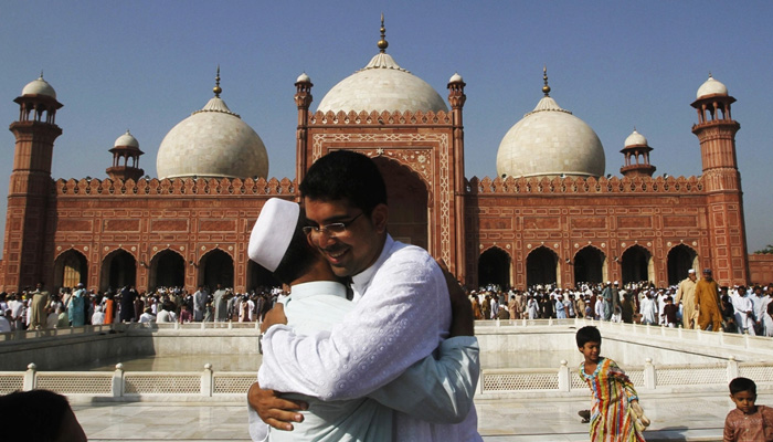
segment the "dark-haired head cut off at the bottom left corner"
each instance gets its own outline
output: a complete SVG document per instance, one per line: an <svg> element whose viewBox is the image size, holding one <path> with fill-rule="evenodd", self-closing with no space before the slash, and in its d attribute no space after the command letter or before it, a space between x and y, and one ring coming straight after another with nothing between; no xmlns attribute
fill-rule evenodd
<svg viewBox="0 0 773 442"><path fill-rule="evenodd" d="M0 415L8 422L3 436L11 441L55 441L67 410L67 399L49 390L0 396Z"/></svg>

